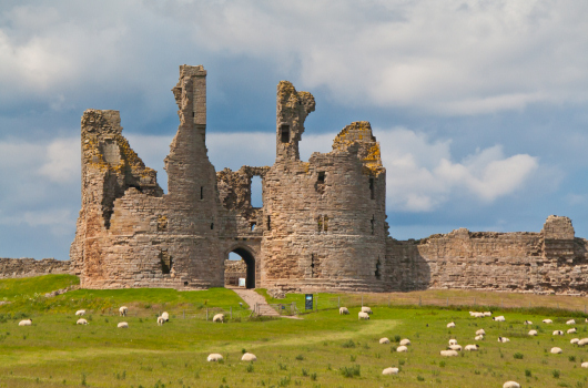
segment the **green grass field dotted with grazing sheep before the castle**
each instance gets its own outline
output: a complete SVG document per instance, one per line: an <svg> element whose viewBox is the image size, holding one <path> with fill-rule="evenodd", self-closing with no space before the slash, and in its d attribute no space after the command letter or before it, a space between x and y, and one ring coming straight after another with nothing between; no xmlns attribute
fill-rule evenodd
<svg viewBox="0 0 588 388"><path fill-rule="evenodd" d="M18 282L12 287L19 288ZM472 318L466 309L382 303L372 305L368 321L358 321L359 308L352 307L348 316L336 309L305 314L303 319L250 320L235 314L233 320L213 324L190 315L184 319L181 312L210 305L236 310L240 299L233 292L75 290L47 300L33 296L28 305L22 295L7 295L12 303L0 306L0 387L485 388L511 379L523 387L588 387L588 369L580 368L588 361L588 348L569 344L574 337L588 337L588 326L579 318L584 314L574 314L577 335L555 337L552 330L569 328L565 321L572 314L540 308L538 302L533 309L495 310L506 323ZM321 297L346 296L320 295L320 304ZM521 304L525 297L519 295ZM302 296L288 298L298 302ZM90 325L74 325L75 309L94 300L100 308L87 315ZM109 315L108 306L121 303L132 306L131 316ZM170 323L161 327L155 324L159 307L172 312ZM19 327L23 316L32 316L33 326ZM545 317L554 324L541 324ZM525 319L534 321L538 337L526 335L530 327L523 325ZM121 320L129 329L116 328ZM457 326L447 329L452 320ZM449 338L463 346L474 344L478 328L487 333L479 351L439 356ZM497 343L498 336L510 343ZM381 337L392 344L379 345ZM394 351L401 338L412 340L406 354ZM554 346L564 354L550 354ZM257 361L242 363L243 350L254 353ZM221 353L224 363L206 363L210 353ZM386 367L399 367L401 372L383 376Z"/></svg>

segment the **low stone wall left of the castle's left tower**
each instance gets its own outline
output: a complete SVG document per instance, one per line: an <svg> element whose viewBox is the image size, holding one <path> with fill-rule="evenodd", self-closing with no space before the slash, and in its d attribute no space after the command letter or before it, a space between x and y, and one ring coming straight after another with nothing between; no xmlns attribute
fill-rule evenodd
<svg viewBox="0 0 588 388"><path fill-rule="evenodd" d="M70 274L70 261L54 258L0 258L0 278L32 277L49 274Z"/></svg>

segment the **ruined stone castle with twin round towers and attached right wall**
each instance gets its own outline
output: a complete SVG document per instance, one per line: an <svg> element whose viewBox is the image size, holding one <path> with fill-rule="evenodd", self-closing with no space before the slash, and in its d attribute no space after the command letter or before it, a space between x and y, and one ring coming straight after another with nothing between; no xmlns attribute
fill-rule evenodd
<svg viewBox="0 0 588 388"><path fill-rule="evenodd" d="M206 71L180 67L180 125L165 157L168 193L122 135L118 111L81 123L82 208L71 245L84 288L246 286L391 292L484 288L586 292L588 242L567 217L539 233L457 229L420 241L388 235L386 171L368 122L344 127L328 153L300 160L308 92L277 85L272 166L215 172L207 157ZM260 176L263 206L251 204ZM244 265L225 265L230 253ZM231 274L229 274L231 273Z"/></svg>

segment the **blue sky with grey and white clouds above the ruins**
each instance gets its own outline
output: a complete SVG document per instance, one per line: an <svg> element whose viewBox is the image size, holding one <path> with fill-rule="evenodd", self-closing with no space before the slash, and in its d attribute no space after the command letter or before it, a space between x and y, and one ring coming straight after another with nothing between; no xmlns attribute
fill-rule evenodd
<svg viewBox="0 0 588 388"><path fill-rule="evenodd" d="M316 100L301 159L372 123L394 238L550 214L588 237L586 1L2 0L0 257L69 258L87 109L121 112L166 190L184 63L207 70L217 171L273 164L288 80Z"/></svg>

